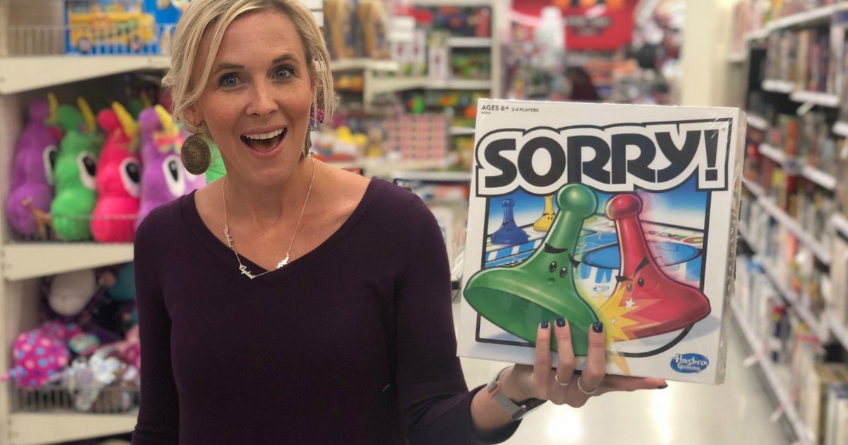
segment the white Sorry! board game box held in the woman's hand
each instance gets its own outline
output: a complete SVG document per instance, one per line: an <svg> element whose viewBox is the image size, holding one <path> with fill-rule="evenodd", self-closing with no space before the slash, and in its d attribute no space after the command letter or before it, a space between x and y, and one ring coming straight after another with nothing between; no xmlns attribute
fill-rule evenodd
<svg viewBox="0 0 848 445"><path fill-rule="evenodd" d="M721 383L744 142L736 108L480 100L459 355L533 364L564 317L578 369L601 321L608 373Z"/></svg>

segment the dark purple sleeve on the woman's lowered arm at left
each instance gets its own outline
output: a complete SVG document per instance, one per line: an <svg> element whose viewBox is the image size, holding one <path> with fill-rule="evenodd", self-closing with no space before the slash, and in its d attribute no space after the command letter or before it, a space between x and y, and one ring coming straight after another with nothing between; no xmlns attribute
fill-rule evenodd
<svg viewBox="0 0 848 445"><path fill-rule="evenodd" d="M147 220L145 220L147 221ZM136 300L142 348L142 387L133 445L178 442L179 403L170 363L170 315L157 283L161 248L152 224L139 226L135 242Z"/></svg>

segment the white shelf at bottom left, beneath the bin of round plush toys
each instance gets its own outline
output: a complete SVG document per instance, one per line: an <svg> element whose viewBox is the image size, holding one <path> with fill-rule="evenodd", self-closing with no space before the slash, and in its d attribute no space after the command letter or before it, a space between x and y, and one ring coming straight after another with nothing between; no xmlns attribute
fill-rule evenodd
<svg viewBox="0 0 848 445"><path fill-rule="evenodd" d="M13 413L8 419L9 445L40 445L131 432L138 413Z"/></svg>

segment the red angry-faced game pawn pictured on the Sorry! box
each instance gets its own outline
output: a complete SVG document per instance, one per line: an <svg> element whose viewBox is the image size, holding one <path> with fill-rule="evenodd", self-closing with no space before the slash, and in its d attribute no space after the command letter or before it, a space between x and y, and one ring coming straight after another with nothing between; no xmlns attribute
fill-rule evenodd
<svg viewBox="0 0 848 445"><path fill-rule="evenodd" d="M631 321L622 327L628 340L678 331L711 311L710 300L700 290L672 280L656 264L641 213L642 200L632 193L616 195L606 206L607 218L615 221L618 233L621 270L615 292L623 293L619 309Z"/></svg>

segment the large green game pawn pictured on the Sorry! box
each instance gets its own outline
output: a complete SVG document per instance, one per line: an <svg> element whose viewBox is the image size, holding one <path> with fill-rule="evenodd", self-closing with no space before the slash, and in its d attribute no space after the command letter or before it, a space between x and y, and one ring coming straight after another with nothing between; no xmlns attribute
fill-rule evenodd
<svg viewBox="0 0 848 445"><path fill-rule="evenodd" d="M516 267L481 270L466 285L466 300L483 318L504 331L536 342L542 320L565 317L572 327L576 355L589 349L589 326L598 320L574 286L574 250L583 220L598 208L598 198L583 184L568 184L556 196L560 213L536 252ZM551 339L556 350L556 339Z"/></svg>

